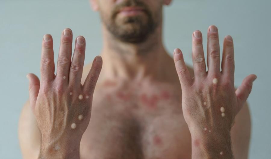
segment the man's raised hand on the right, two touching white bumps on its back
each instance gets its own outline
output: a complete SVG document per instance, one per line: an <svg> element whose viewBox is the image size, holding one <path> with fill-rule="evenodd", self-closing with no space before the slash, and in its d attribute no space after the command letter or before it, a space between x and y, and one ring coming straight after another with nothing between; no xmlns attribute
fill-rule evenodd
<svg viewBox="0 0 271 159"><path fill-rule="evenodd" d="M235 91L232 37L228 35L224 39L220 71L220 46L216 26L209 27L207 36L208 71L202 34L195 31L192 35L195 78L191 78L181 50L174 50L176 71L182 87L182 110L192 135L193 159L218 158L218 156L231 158L230 130L257 76L254 74L247 76ZM210 152L206 152L208 150Z"/></svg>

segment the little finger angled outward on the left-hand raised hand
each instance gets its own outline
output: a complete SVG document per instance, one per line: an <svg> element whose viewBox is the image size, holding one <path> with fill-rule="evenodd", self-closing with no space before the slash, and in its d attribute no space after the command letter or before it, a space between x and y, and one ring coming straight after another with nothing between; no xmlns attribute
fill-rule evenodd
<svg viewBox="0 0 271 159"><path fill-rule="evenodd" d="M101 56L96 56L93 60L91 69L83 85L84 94L92 97L96 82L101 72L102 63Z"/></svg>

